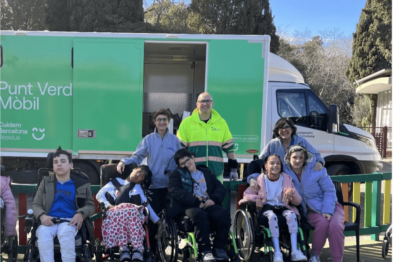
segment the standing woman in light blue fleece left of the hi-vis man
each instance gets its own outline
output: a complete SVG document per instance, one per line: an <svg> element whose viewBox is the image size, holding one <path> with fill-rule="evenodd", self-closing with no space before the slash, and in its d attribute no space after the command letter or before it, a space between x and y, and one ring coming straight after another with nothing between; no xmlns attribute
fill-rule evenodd
<svg viewBox="0 0 393 262"><path fill-rule="evenodd" d="M140 165L147 157L147 165L153 174L147 196L156 214L160 214L166 207L165 196L168 194L169 177L164 172L176 169L173 156L177 150L182 148L179 139L167 128L170 119L171 115L168 110L157 110L154 114L154 124L156 124L154 132L142 139L132 157L121 159L117 168L121 174L125 165L130 163Z"/></svg>

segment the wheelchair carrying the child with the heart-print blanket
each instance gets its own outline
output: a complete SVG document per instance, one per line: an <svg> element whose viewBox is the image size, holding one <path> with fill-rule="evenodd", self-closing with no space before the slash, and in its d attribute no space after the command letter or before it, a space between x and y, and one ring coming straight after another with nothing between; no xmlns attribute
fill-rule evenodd
<svg viewBox="0 0 393 262"><path fill-rule="evenodd" d="M105 186L112 178L122 178L125 179L127 178L132 170L136 168L135 164L130 164L130 165L125 165L125 169L122 174L119 174L116 167L118 164L106 164L101 166L101 187ZM147 203L143 203L143 205L146 205ZM102 212L102 218L103 220L106 218L106 212L107 209L103 205L103 203L100 203L101 207L101 212ZM143 214L147 217L146 222L143 224L143 227L145 228L145 233L146 237L143 240L143 246L145 248L145 251L143 252L143 261L144 262L151 262L152 261L152 255L151 255L151 247L150 247L150 240L149 240L149 220L150 220L150 211L145 207L143 209ZM127 247L129 248L130 251L132 251L132 246L130 244L127 244ZM99 238L95 239L95 261L96 262L102 262L103 260L109 259L110 262L114 262L114 259L119 259L120 254L119 254L119 247L110 247L106 248L104 245L104 242L101 242Z"/></svg>

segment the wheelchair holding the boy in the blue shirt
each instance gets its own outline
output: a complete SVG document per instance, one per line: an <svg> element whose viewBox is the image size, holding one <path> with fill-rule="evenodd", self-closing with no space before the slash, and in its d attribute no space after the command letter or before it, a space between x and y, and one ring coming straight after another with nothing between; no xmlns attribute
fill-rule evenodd
<svg viewBox="0 0 393 262"><path fill-rule="evenodd" d="M40 168L38 170L37 188L40 185L42 178L48 174L53 173L53 152L48 154L46 159L47 168ZM87 175L82 173L79 168L71 169L71 172L77 176L83 176L87 178ZM35 235L39 223L35 216L33 215L33 210L29 209L28 213L20 217L24 218L25 222L25 233L31 233L31 237L28 239L23 260L27 262L39 262L40 255L37 243L37 236ZM60 218L53 218L53 223L66 222ZM60 244L57 236L53 239L54 242L54 258L55 262L61 261ZM90 217L87 217L79 229L77 235L75 236L75 253L77 262L92 262L94 257L94 230L93 222Z"/></svg>

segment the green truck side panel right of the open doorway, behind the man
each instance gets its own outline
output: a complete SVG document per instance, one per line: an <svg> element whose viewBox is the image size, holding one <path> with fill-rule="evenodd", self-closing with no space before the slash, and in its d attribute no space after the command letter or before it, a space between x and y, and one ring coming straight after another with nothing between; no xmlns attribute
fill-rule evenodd
<svg viewBox="0 0 393 262"><path fill-rule="evenodd" d="M261 150L264 48L266 42L209 42L207 92L228 123L238 161Z"/></svg>

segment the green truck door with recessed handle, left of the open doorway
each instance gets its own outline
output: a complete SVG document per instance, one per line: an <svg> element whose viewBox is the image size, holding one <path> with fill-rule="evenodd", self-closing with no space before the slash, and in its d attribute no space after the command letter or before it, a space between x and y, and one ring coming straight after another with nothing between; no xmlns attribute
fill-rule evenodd
<svg viewBox="0 0 393 262"><path fill-rule="evenodd" d="M75 38L73 152L123 154L142 137L143 40Z"/></svg>

